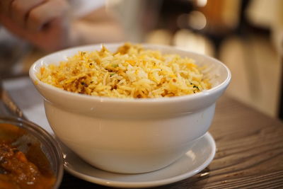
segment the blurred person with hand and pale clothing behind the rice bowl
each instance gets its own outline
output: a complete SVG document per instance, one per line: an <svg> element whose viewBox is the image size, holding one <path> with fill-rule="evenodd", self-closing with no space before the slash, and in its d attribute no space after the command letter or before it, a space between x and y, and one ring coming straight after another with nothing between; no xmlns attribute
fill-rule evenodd
<svg viewBox="0 0 283 189"><path fill-rule="evenodd" d="M0 25L41 50L123 40L105 1L0 0Z"/></svg>

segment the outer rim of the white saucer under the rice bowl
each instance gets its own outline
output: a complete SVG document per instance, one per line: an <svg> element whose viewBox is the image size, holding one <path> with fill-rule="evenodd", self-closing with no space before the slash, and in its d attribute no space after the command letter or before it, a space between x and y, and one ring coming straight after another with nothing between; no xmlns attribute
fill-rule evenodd
<svg viewBox="0 0 283 189"><path fill-rule="evenodd" d="M157 180L157 181L143 181L143 182L110 181L110 180L106 180L106 179L103 179L103 178L96 178L96 177L93 177L93 176L85 175L83 173L75 171L74 169L69 168L66 164L64 164L64 169L68 173L70 173L71 175L76 176L77 178L81 178L84 181L96 183L98 185L105 185L105 186L108 186L108 187L114 187L114 188L151 188L151 187L156 187L156 186L160 186L160 185L167 185L167 184L170 184L170 183L182 181L185 178L190 178L191 176L194 176L197 173L200 173L200 171L204 170L204 168L206 168L212 162L212 160L214 159L215 153L216 153L215 140L212 137L212 134L210 134L209 132L204 134L203 137L207 137L208 143L212 147L212 151L210 152L208 158L202 163L202 165L198 166L197 168L193 169L192 171L188 171L188 172L180 174L178 176L173 176L171 178L161 179L161 180ZM67 164L69 164L69 162L67 162ZM108 172L108 171L105 171L105 172ZM119 173L117 173L117 174L119 174Z"/></svg>

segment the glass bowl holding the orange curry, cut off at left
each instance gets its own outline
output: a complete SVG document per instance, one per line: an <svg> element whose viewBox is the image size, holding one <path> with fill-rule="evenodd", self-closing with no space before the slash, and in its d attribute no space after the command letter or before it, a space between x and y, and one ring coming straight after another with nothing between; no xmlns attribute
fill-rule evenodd
<svg viewBox="0 0 283 189"><path fill-rule="evenodd" d="M13 125L15 127L13 127ZM15 130L16 127L21 128ZM8 128L8 132L7 129ZM20 131L21 134L17 136L15 131ZM18 132L18 133L20 133ZM7 134L9 135L7 136ZM11 135L10 135L11 134ZM0 117L0 141L11 139L13 146L16 146L20 151L28 151L31 147L36 147L42 151L43 156L46 156L48 171L51 171L56 181L53 188L59 188L63 176L63 157L57 141L40 126L35 125L33 122L23 120L22 118L8 118ZM42 154L40 153L40 154ZM36 159L42 158L41 156L35 157ZM32 161L33 162L33 161ZM35 162L33 162L35 164Z"/></svg>

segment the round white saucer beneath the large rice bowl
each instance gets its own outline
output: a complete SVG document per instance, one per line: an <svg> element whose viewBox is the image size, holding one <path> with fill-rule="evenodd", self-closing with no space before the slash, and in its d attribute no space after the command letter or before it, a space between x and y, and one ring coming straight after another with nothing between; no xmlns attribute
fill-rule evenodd
<svg viewBox="0 0 283 189"><path fill-rule="evenodd" d="M206 168L214 158L216 145L209 132L175 161L175 163L158 171L139 174L111 173L95 168L79 158L67 147L62 146L64 168L72 175L91 183L119 188L149 188L158 185L175 183Z"/></svg>

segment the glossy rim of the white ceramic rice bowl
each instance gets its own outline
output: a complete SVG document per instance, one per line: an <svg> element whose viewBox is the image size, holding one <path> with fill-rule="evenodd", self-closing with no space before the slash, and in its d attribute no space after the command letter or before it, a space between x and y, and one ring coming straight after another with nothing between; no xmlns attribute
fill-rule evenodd
<svg viewBox="0 0 283 189"><path fill-rule="evenodd" d="M214 62L217 62L217 64L220 64L226 70L226 73L227 73L226 79L223 82L221 82L221 84L218 84L217 86L214 86L213 88L209 88L208 90L204 90L204 91L201 91L199 93L188 94L188 95L185 95L185 96L173 96L173 97L170 97L170 98L115 98L115 97L107 97L107 96L90 96L90 95L82 94L82 93L74 93L74 92L70 92L70 91L64 91L62 88L57 88L56 86L52 86L50 84L45 84L44 82L40 81L35 74L37 72L35 67L37 67L38 64L40 64L47 57L59 55L59 54L62 54L64 52L69 52L69 51L74 51L74 50L79 51L79 49L81 49L81 48L90 48L90 47L95 48L95 47L98 47L98 46L102 47L103 45L105 45L105 46L117 46L117 45L121 45L121 44L124 44L124 43L125 42L82 45L82 46L78 46L78 47L70 47L70 48L67 48L67 49L64 49L64 50L59 50L57 52L52 52L51 54L46 55L45 57L37 59L37 61L35 61L32 64L32 66L29 69L30 79L33 81L33 84L35 85L36 88L37 88L37 85L39 85L39 86L42 86L43 88L46 88L49 91L61 93L62 95L71 96L71 97L74 97L74 98L77 98L77 99L90 100L90 101L100 101L100 102L109 102L109 103L169 103L171 101L176 102L176 101L195 100L195 99L198 99L198 98L203 98L204 96L211 95L212 93L217 93L218 91L221 91L226 86L228 86L228 84L231 81L231 71L230 71L230 69L224 63L222 63L218 59L215 59L214 57L209 57L207 55L203 55L203 54L188 51L188 50L182 50L178 47L173 47L173 46L170 46L170 45L154 45L154 44L148 44L148 43L140 43L140 44L143 45L144 47L149 47L149 48L152 47L152 48L174 49L174 50L178 50L178 51L183 52L183 53L188 52L192 55L197 55L197 56L200 56L200 57L204 57L205 59L210 59Z"/></svg>

